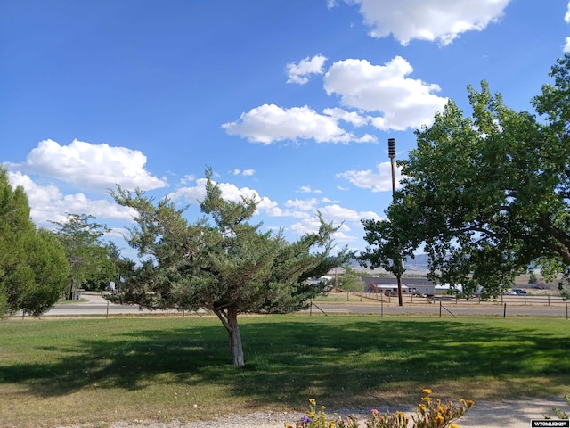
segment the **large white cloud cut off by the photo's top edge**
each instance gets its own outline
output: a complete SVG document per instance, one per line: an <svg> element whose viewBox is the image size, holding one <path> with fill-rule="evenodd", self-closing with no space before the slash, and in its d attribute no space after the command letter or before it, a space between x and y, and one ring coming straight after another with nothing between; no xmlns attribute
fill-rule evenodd
<svg viewBox="0 0 570 428"><path fill-rule="evenodd" d="M392 34L402 45L427 40L449 45L467 31L499 21L510 0L346 0L357 4L371 37Z"/></svg>

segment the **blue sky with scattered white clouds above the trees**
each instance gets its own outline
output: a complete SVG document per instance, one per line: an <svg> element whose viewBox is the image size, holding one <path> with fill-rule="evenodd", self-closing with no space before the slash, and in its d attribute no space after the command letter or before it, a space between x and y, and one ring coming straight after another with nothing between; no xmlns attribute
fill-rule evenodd
<svg viewBox="0 0 570 428"><path fill-rule="evenodd" d="M139 187L199 218L204 169L296 239L335 223L360 250L397 159L486 80L530 110L570 49L549 0L0 0L0 163L37 226L91 214L118 240ZM126 244L119 246L125 248ZM128 254L128 251L125 251Z"/></svg>

